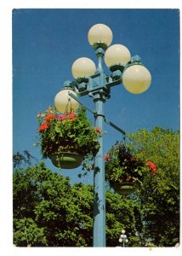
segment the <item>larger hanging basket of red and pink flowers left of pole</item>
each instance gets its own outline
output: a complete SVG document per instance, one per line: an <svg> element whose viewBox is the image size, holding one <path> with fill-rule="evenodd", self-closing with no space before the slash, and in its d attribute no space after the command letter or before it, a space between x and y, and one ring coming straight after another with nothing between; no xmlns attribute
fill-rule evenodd
<svg viewBox="0 0 182 256"><path fill-rule="evenodd" d="M77 168L82 160L93 159L100 149L102 132L88 120L85 108L60 114L49 107L37 115L43 157L63 169Z"/></svg>

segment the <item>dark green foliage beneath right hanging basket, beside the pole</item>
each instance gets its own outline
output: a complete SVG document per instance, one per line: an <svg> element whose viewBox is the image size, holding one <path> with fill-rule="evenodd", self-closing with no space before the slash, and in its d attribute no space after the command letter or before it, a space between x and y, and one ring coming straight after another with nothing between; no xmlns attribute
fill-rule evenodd
<svg viewBox="0 0 182 256"><path fill-rule="evenodd" d="M118 246L122 230L126 230L128 246L134 246L135 232L142 230L140 202L129 197L106 192L106 244ZM138 244L139 246L139 244Z"/></svg>

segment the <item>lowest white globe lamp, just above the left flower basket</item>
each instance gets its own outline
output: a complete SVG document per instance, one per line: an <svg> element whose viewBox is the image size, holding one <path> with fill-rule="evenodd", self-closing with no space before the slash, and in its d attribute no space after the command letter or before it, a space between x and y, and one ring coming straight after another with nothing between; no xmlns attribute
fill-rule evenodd
<svg viewBox="0 0 182 256"><path fill-rule="evenodd" d="M60 90L54 97L54 106L60 113L65 113L65 111L75 111L79 106L79 103L68 95L69 92L74 96L77 96L73 90L64 89Z"/></svg>

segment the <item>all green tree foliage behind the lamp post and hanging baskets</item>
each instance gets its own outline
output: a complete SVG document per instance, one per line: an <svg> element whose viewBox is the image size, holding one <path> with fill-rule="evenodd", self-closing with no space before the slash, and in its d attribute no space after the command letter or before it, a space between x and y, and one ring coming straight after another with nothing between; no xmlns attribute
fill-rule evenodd
<svg viewBox="0 0 182 256"><path fill-rule="evenodd" d="M174 246L179 242L179 131L139 130L128 136L126 147L145 175L132 195L106 191L106 245L118 246L124 229L129 247ZM115 161L117 165L118 158ZM149 161L156 172L146 165ZM14 244L92 247L93 194L93 186L71 186L43 162L16 170Z"/></svg>

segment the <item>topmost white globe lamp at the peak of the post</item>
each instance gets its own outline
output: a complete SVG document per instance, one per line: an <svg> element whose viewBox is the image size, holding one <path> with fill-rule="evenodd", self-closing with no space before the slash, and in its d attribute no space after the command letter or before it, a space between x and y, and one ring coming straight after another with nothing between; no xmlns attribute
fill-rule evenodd
<svg viewBox="0 0 182 256"><path fill-rule="evenodd" d="M92 26L88 31L88 42L90 45L104 43L109 46L112 42L111 28L105 24Z"/></svg>

